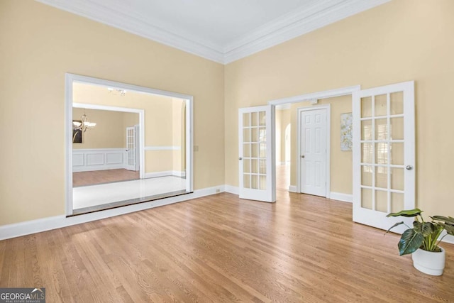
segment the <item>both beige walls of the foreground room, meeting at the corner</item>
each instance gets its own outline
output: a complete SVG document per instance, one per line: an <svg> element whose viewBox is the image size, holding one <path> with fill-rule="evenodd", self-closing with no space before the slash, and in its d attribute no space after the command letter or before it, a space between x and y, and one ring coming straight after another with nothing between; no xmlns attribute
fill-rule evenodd
<svg viewBox="0 0 454 303"><path fill-rule="evenodd" d="M0 225L65 213L65 72L193 95L195 189L238 186L240 107L414 79L416 204L452 215L452 16L452 0L391 1L223 67L36 1L2 0L0 121L14 131L0 128L11 147L0 158Z"/></svg>

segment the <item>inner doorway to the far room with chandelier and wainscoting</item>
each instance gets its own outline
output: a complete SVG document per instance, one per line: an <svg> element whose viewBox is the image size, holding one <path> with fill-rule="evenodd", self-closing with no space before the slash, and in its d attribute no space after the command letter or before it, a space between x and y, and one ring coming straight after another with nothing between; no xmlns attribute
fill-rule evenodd
<svg viewBox="0 0 454 303"><path fill-rule="evenodd" d="M139 113L77 106L72 104L72 187L140 179ZM83 127L82 119L96 122Z"/></svg>

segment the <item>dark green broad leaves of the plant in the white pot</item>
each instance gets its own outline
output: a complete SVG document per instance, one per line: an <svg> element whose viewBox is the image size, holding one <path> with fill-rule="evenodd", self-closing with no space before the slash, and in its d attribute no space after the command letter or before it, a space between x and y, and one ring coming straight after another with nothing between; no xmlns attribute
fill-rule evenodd
<svg viewBox="0 0 454 303"><path fill-rule="evenodd" d="M415 250L421 248L423 250L439 252L441 249L438 247L438 243L446 236L440 237L441 233L446 231L446 234L454 236L454 218L451 216L431 216L432 221L426 222L421 216L421 209L409 209L399 211L397 213L391 213L387 216L405 216L415 217L413 222L413 228L406 225L404 222L398 222L391 226L386 232L391 231L392 228L404 224L407 229L402 233L402 237L399 240L399 253L400 255L406 255L414 253Z"/></svg>

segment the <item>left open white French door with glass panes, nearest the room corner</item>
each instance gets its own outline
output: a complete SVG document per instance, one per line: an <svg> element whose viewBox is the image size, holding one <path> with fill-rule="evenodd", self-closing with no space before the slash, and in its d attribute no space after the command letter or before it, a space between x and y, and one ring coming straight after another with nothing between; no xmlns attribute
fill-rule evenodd
<svg viewBox="0 0 454 303"><path fill-rule="evenodd" d="M239 110L239 194L241 199L276 202L275 107Z"/></svg>

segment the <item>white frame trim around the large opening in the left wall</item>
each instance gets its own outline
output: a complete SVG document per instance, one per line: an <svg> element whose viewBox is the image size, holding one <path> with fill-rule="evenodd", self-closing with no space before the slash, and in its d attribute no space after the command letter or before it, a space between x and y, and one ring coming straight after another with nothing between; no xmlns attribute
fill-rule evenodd
<svg viewBox="0 0 454 303"><path fill-rule="evenodd" d="M65 167L66 167L66 186L65 186L65 197L66 197L66 214L67 216L72 215L72 84L73 83L84 83L99 85L101 87L116 87L119 89L126 89L128 91L142 92L145 94L154 94L157 96L174 97L184 99L186 102L186 190L187 192L194 192L194 114L193 114L193 103L194 97L187 94L179 94L177 92L167 92L160 89L152 89L149 87L140 87L138 85L126 84L121 82L115 82L105 79L99 79L94 77L87 77L81 75L74 75L70 73L65 74ZM80 104L79 104L80 105ZM87 109L99 109L99 105L96 104L82 104ZM105 106L104 106L105 107ZM111 106L112 108L114 106ZM125 108L121 107L123 111ZM139 110L140 109L135 109ZM140 115L140 114L139 114ZM142 119L145 119L142 114ZM140 126L143 126L143 120L140 121ZM140 127L140 136L143 136L144 128ZM140 143L140 149L143 150L143 139ZM143 165L144 160L140 157L140 173L144 172L145 166ZM145 175L145 174L143 174ZM140 177L144 177L140 175Z"/></svg>

